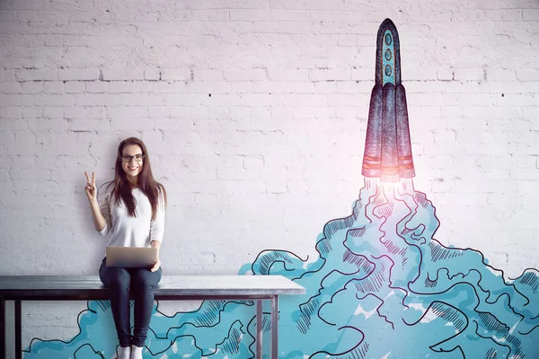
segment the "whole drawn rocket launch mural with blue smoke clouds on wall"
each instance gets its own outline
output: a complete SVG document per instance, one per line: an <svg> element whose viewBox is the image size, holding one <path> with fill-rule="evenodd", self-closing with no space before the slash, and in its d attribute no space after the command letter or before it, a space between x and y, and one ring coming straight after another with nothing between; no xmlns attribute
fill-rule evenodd
<svg viewBox="0 0 539 359"><path fill-rule="evenodd" d="M532 359L539 357L539 272L507 278L478 250L435 239L436 209L415 190L399 37L378 32L376 84L351 215L323 226L318 258L264 250L240 274L282 275L306 288L279 301L279 358ZM470 238L473 241L473 238ZM205 301L167 317L155 306L145 358L254 357L251 301ZM32 339L25 358L111 358L107 301L90 301L80 333ZM264 315L264 340L270 317ZM265 353L264 357L269 357Z"/></svg>

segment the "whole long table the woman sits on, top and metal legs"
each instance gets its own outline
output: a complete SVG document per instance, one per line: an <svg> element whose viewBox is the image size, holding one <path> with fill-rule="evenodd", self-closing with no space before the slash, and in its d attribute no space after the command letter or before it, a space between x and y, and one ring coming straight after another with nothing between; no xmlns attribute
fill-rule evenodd
<svg viewBox="0 0 539 359"><path fill-rule="evenodd" d="M156 300L252 300L256 305L256 358L262 357L262 301L271 301L271 358L278 358L278 296L304 294L285 276L163 276ZM108 300L99 276L0 276L0 356L6 356L5 302L15 304L15 357L22 358L22 301Z"/></svg>

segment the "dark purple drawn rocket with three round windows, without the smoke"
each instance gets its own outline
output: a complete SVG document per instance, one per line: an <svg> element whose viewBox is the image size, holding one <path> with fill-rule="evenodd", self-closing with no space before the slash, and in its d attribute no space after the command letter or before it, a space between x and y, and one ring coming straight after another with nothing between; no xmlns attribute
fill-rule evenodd
<svg viewBox="0 0 539 359"><path fill-rule="evenodd" d="M383 182L415 176L406 92L401 83L399 34L390 19L382 22L376 38L376 83L368 110L361 174Z"/></svg>

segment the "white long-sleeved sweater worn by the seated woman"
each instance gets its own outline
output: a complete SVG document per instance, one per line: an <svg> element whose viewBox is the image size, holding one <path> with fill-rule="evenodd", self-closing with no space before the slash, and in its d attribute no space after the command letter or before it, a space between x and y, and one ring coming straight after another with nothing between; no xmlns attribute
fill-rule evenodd
<svg viewBox="0 0 539 359"><path fill-rule="evenodd" d="M152 206L148 197L139 189L132 189L135 197L136 217L128 214L128 208L120 200L115 205L111 197L113 185L109 188L102 187L102 193L98 196L99 208L105 217L105 228L100 232L105 236L111 233L107 246L122 247L151 247L152 241L163 241L164 232L164 198L163 193L159 196L155 220L152 221Z"/></svg>

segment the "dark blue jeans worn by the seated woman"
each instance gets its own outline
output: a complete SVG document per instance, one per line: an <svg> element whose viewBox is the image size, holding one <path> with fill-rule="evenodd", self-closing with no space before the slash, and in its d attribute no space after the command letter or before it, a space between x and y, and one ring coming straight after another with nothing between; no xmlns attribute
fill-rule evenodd
<svg viewBox="0 0 539 359"><path fill-rule="evenodd" d="M144 346L154 308L154 289L161 280L161 267L155 272L148 268L107 267L105 259L99 268L99 277L109 288L110 309L119 345ZM135 300L133 337L129 323L129 291Z"/></svg>

